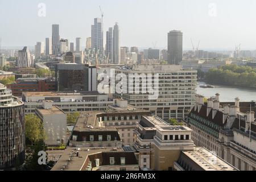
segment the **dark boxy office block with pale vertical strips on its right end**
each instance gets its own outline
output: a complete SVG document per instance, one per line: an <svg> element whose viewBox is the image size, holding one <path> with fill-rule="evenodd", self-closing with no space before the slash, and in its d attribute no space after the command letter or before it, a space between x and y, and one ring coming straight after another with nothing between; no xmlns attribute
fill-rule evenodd
<svg viewBox="0 0 256 182"><path fill-rule="evenodd" d="M56 64L56 86L58 91L96 91L96 67L86 64Z"/></svg>

